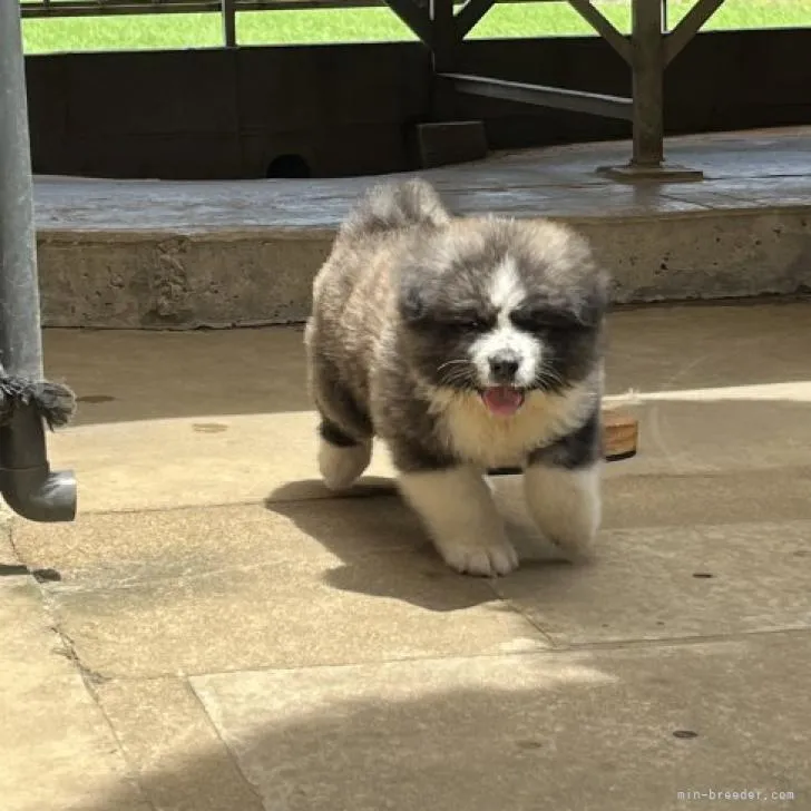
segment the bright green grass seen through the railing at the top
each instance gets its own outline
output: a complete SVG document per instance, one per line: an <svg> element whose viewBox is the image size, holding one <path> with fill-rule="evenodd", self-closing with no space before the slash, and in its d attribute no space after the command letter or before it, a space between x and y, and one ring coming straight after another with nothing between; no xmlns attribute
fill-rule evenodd
<svg viewBox="0 0 811 811"><path fill-rule="evenodd" d="M6 0L0 0L4 2ZM629 28L629 2L597 2L622 31ZM691 8L671 0L670 23ZM726 0L707 29L811 26L811 0ZM471 37L536 37L592 33L565 2L510 3L494 8ZM413 39L388 9L245 12L237 18L241 45L370 42ZM23 22L26 52L202 48L222 45L219 16L143 14L35 19Z"/></svg>

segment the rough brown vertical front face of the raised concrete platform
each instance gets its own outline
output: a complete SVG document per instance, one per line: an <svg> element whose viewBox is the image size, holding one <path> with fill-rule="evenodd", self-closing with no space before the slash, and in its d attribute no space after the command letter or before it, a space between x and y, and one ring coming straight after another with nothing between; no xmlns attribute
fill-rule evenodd
<svg viewBox="0 0 811 811"><path fill-rule="evenodd" d="M617 303L793 294L811 277L811 206L557 217L590 238ZM194 329L299 322L330 227L38 236L46 326Z"/></svg>

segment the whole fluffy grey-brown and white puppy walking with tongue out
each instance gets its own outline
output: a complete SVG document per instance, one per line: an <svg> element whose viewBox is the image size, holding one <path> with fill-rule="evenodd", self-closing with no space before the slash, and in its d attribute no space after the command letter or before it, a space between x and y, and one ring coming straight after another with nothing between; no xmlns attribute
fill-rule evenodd
<svg viewBox="0 0 811 811"><path fill-rule="evenodd" d="M485 475L520 467L529 512L570 556L600 521L607 279L543 219L452 217L421 180L371 190L313 285L305 330L319 463L342 490L389 447L453 569L518 557Z"/></svg>

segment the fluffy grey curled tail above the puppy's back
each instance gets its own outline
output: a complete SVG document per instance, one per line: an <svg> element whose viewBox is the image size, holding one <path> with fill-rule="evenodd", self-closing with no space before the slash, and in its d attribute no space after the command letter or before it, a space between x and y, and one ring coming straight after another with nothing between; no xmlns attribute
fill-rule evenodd
<svg viewBox="0 0 811 811"><path fill-rule="evenodd" d="M411 225L440 228L450 214L433 187L413 179L375 186L367 192L344 222L341 233L362 236L397 231Z"/></svg>

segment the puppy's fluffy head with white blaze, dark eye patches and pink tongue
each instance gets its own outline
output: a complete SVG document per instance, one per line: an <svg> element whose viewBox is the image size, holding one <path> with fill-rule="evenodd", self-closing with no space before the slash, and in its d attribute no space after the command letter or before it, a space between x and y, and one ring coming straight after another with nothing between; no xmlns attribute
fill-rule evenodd
<svg viewBox="0 0 811 811"><path fill-rule="evenodd" d="M532 390L584 380L600 353L607 284L584 240L548 222L459 219L401 270L408 362L430 385L508 417Z"/></svg>

